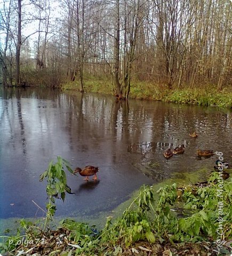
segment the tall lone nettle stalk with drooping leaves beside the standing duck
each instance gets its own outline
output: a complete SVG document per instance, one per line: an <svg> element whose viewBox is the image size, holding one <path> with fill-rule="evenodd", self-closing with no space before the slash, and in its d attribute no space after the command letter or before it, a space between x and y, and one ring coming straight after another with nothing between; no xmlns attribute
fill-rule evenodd
<svg viewBox="0 0 232 256"><path fill-rule="evenodd" d="M55 198L61 198L62 201L65 201L66 192L68 194L73 194L71 193L70 187L67 185L65 169L67 169L71 174L74 174L69 163L65 159L58 156L57 163L53 164L53 161L51 161L47 170L39 177L39 181L43 181L45 178L47 180L46 193L49 198L49 202L46 204L47 212L44 223L44 231L55 214Z"/></svg>

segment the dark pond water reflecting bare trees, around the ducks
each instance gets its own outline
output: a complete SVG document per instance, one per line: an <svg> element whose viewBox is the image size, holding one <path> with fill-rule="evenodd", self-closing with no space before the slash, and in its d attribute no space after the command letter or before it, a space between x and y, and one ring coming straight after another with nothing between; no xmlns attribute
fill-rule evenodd
<svg viewBox="0 0 232 256"><path fill-rule="evenodd" d="M217 156L198 158L198 148L222 151L231 162L231 125L229 109L0 88L0 218L43 215L39 174L57 156L73 168L99 166L97 182L68 174L75 194L57 201L56 215L90 216L114 209L142 184L212 169ZM189 137L194 131L196 139ZM183 155L164 158L181 144Z"/></svg>

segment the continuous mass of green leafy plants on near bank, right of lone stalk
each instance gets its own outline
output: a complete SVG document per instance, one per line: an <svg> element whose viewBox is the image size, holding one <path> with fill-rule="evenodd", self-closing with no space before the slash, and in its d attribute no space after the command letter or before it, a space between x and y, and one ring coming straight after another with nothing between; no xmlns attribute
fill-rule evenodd
<svg viewBox="0 0 232 256"><path fill-rule="evenodd" d="M231 186L231 180L225 181L222 192L223 231L227 237L231 237ZM132 246L137 241L155 243L157 238L159 241L175 242L215 240L219 224L217 189L217 183L206 187L183 188L178 188L174 183L157 191L159 197L155 203L153 187L142 186L121 218L114 223L111 217L107 218L106 226L99 236L91 237L91 230L80 223L70 222L71 227L65 227L73 230L73 239L81 247L78 253L86 255L105 250L107 255L117 255L122 253L125 246ZM179 217L177 211L188 211L188 217Z"/></svg>

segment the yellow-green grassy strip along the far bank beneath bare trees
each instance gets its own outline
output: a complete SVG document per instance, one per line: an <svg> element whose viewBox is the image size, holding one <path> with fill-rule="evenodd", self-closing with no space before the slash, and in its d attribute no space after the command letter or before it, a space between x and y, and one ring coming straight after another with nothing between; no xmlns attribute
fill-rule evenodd
<svg viewBox="0 0 232 256"><path fill-rule="evenodd" d="M78 91L76 82L71 82L63 86L64 90ZM113 94L113 83L110 79L88 77L84 81L86 92L97 92L103 94ZM215 86L195 87L190 89L173 88L167 89L165 85L157 85L148 82L132 82L130 98L143 100L159 100L181 104L194 104L201 106L218 106L232 108L231 88L225 88L221 92Z"/></svg>

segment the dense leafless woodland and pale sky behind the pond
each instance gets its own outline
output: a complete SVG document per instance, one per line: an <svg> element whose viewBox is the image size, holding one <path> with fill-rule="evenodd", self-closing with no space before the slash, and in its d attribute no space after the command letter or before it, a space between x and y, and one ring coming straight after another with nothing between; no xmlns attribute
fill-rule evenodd
<svg viewBox="0 0 232 256"><path fill-rule="evenodd" d="M109 78L175 87L232 84L229 0L1 0L5 86L58 87Z"/></svg>

